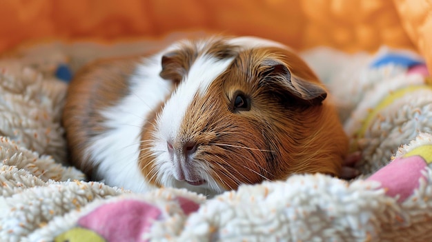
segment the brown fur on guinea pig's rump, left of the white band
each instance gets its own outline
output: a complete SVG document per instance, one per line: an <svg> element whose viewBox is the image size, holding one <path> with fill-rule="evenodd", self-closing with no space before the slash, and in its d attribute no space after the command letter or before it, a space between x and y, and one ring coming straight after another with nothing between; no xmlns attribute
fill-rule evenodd
<svg viewBox="0 0 432 242"><path fill-rule="evenodd" d="M70 159L88 176L92 163L84 154L89 140L106 131L99 114L128 94L128 79L135 71L138 57L97 61L81 69L68 88L63 111L63 126Z"/></svg>

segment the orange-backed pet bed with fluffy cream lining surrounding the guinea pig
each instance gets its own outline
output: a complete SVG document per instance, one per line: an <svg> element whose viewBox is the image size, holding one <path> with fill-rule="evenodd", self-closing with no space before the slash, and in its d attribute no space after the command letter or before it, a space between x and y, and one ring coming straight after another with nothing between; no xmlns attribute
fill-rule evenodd
<svg viewBox="0 0 432 242"><path fill-rule="evenodd" d="M132 3L117 1L93 15L96 3L87 1L34 1L26 8L1 3L1 18L11 22L0 21L0 33L18 28L1 39L0 49L25 38L61 41L32 41L0 59L0 241L431 241L431 3L320 0L312 4L321 7L317 12L306 2L158 1L147 3L146 21ZM244 19L237 23L239 9ZM158 26L159 17L179 21ZM26 32L32 21L40 32ZM111 21L129 28L101 28ZM139 32L135 26L150 22L158 28ZM242 28L252 25L258 27ZM68 81L92 59L151 51L179 37L155 41L157 34L186 26L228 29L307 50L304 58L334 93L352 151L363 152L362 176L344 181L297 174L241 185L213 199L173 188L134 194L83 181L84 174L66 163L60 125ZM139 34L153 39L106 44L114 36ZM98 42L77 43L82 37ZM384 45L391 48L377 50ZM413 86L424 89L411 93ZM411 99L400 98L404 90ZM424 99L416 103L413 97Z"/></svg>

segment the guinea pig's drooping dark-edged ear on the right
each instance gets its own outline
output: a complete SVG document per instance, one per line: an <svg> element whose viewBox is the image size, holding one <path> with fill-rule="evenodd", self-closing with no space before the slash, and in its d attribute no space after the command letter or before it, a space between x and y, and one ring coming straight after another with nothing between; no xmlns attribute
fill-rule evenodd
<svg viewBox="0 0 432 242"><path fill-rule="evenodd" d="M288 67L279 61L273 59L263 61L261 74L264 81L271 82L278 87L277 90L274 89L275 91L282 91L300 103L317 105L327 97L327 92L320 83L313 83L291 74Z"/></svg>

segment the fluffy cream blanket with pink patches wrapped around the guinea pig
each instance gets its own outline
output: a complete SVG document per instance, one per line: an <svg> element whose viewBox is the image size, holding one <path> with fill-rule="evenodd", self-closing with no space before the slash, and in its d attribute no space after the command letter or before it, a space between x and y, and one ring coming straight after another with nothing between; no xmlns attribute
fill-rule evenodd
<svg viewBox="0 0 432 242"><path fill-rule="evenodd" d="M0 60L0 241L432 240L432 102L411 107L405 104L413 101L394 97L373 111L404 86L389 83L427 85L424 74L408 73L413 64L375 66L377 56L306 53L343 103L346 132L353 148L364 151L364 176L348 182L294 175L206 199L186 190L133 194L85 182L65 163L60 114L67 83L55 74L61 63L73 70L88 60L67 48L39 59L40 49ZM412 114L406 120L404 110ZM397 149L402 143L409 144Z"/></svg>

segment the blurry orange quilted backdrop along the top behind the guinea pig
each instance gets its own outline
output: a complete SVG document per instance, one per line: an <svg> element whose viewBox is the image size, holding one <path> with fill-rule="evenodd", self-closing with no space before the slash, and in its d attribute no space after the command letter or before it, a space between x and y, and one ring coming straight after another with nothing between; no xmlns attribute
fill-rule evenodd
<svg viewBox="0 0 432 242"><path fill-rule="evenodd" d="M297 49L417 48L431 63L431 10L430 0L1 0L0 52L46 39L110 42L209 30Z"/></svg>

